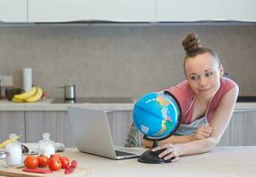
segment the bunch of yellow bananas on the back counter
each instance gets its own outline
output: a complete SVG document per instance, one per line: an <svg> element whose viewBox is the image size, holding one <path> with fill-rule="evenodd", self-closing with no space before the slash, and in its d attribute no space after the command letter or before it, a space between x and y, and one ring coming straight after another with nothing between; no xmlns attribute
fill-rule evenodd
<svg viewBox="0 0 256 177"><path fill-rule="evenodd" d="M32 87L32 89L29 89L27 92L14 95L12 98L13 102L16 103L33 103L41 99L43 95L43 89L39 88L38 86Z"/></svg>

